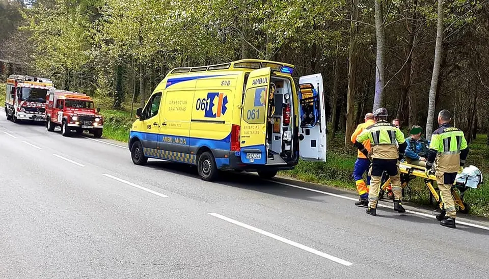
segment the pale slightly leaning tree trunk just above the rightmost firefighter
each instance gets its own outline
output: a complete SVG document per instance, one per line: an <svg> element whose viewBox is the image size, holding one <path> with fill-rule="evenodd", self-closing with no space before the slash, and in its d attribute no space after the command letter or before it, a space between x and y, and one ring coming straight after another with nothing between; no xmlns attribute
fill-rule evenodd
<svg viewBox="0 0 489 279"><path fill-rule="evenodd" d="M433 75L431 76L431 86L429 88L428 120L426 121L426 138L431 139L433 132L433 120L435 99L438 87L438 75L440 74L441 54L443 51L443 0L438 0L438 24L437 24L437 43L434 48Z"/></svg>

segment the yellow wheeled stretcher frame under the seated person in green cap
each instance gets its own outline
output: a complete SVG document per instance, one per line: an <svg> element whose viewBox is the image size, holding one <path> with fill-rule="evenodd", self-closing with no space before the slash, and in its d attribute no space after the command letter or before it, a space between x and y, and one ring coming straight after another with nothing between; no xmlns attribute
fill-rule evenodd
<svg viewBox="0 0 489 279"><path fill-rule="evenodd" d="M441 197L438 191L434 188L433 184L437 181L434 173L426 174L425 168L423 166L412 165L406 162L399 163L399 169L401 171L401 186L405 190L409 182L417 177L422 178L424 180L424 184L428 187L431 197L430 199L434 199L440 204L441 207ZM381 187L381 193L379 193L379 198L382 199L384 197L384 193L386 192L387 187L390 185L390 178L387 179ZM470 189L464 183L455 182L451 188L453 201L455 202L455 206L457 210L461 213L467 214L469 213L470 206L464 202L464 193L466 190ZM431 200L432 201L432 200Z"/></svg>

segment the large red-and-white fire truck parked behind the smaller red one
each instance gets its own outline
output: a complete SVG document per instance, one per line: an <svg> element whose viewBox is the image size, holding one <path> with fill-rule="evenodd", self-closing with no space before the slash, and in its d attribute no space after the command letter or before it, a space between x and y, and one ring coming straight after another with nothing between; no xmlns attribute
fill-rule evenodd
<svg viewBox="0 0 489 279"><path fill-rule="evenodd" d="M52 81L42 77L10 75L7 78L5 114L8 120L45 121L45 96L53 90Z"/></svg>

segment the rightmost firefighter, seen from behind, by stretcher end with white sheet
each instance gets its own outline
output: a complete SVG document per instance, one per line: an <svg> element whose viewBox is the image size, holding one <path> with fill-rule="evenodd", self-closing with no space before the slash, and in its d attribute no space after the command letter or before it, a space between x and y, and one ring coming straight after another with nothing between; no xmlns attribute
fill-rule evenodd
<svg viewBox="0 0 489 279"><path fill-rule="evenodd" d="M457 173L464 169L469 147L464 132L450 125L450 117L450 111L446 109L438 114L440 127L431 135L426 171L428 172L436 161L435 176L443 204L437 219L440 220L440 225L455 228L457 211L451 187Z"/></svg>

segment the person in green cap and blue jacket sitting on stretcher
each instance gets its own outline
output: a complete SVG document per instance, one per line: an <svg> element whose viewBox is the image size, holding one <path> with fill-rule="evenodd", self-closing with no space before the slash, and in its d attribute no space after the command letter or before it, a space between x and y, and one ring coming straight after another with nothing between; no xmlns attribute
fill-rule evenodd
<svg viewBox="0 0 489 279"><path fill-rule="evenodd" d="M410 137L406 138L406 151L404 156L408 164L426 167L426 159L428 157L429 142L421 136L423 128L418 125L413 125L410 130Z"/></svg>

